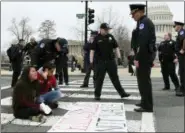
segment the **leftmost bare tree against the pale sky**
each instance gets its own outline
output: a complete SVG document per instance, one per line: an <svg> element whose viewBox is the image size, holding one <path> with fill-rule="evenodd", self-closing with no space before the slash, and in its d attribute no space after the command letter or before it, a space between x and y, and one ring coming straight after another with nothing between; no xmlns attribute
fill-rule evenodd
<svg viewBox="0 0 185 133"><path fill-rule="evenodd" d="M12 19L12 25L8 28L8 31L15 36L16 40L24 39L28 42L29 37L33 34L33 29L28 25L30 19L23 17L20 22L17 22L15 18Z"/></svg>

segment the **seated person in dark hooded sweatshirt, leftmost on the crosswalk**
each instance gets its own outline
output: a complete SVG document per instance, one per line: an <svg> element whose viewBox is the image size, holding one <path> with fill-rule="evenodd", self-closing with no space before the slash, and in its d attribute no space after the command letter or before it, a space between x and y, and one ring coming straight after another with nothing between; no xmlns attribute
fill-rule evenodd
<svg viewBox="0 0 185 133"><path fill-rule="evenodd" d="M36 69L32 66L24 68L12 96L13 114L16 118L44 122L43 114L51 113L51 109L47 105L36 103L39 87ZM49 109L49 112L45 112L44 106Z"/></svg>

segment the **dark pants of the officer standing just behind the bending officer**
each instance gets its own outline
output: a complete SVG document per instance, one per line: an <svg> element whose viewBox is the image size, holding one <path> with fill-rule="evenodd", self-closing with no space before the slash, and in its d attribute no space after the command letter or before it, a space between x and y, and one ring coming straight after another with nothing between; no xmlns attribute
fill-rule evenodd
<svg viewBox="0 0 185 133"><path fill-rule="evenodd" d="M63 78L65 83L68 83L69 81L69 76L68 76L68 67L64 66L62 67L62 70L59 72L59 82L63 83Z"/></svg>

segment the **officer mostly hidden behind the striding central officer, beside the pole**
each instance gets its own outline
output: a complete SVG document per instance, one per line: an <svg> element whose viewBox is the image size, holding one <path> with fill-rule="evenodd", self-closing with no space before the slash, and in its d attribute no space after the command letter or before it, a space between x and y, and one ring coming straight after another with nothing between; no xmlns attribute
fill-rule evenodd
<svg viewBox="0 0 185 133"><path fill-rule="evenodd" d="M86 75L85 75L85 78L84 78L84 82L80 86L81 88L88 87L88 84L89 84L89 78L90 78L91 70L92 70L92 67L90 66L90 45L93 43L94 38L97 36L97 34L98 34L97 31L92 31L90 41L84 46L85 63L86 63L86 66L87 66L87 70L86 70ZM94 63L93 65L95 66L95 58L94 58L93 63ZM94 73L93 73L94 74L93 75L93 83L94 83L94 87L95 87L95 78L96 78L95 67L93 68L93 71L94 71Z"/></svg>

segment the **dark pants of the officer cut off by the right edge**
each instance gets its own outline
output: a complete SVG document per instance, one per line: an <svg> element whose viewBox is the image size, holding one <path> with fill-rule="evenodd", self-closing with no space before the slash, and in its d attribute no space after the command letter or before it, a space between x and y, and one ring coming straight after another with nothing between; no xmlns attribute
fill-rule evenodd
<svg viewBox="0 0 185 133"><path fill-rule="evenodd" d="M185 54L179 56L181 91L185 93Z"/></svg>

